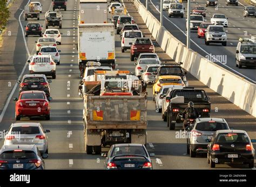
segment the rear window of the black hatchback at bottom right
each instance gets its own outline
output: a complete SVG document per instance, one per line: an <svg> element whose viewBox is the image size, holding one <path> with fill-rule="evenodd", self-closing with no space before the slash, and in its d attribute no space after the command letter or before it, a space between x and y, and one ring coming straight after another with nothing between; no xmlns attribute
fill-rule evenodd
<svg viewBox="0 0 256 187"><path fill-rule="evenodd" d="M217 137L217 143L249 143L248 135L244 133L221 133Z"/></svg>

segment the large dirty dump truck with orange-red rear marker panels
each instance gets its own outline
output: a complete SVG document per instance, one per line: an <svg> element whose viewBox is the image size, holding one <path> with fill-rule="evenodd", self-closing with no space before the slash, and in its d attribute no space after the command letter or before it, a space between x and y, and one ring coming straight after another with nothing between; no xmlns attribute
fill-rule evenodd
<svg viewBox="0 0 256 187"><path fill-rule="evenodd" d="M105 78L100 81L100 95L84 95L86 153L100 154L102 147L116 143L146 145L146 93L133 95L131 79Z"/></svg>

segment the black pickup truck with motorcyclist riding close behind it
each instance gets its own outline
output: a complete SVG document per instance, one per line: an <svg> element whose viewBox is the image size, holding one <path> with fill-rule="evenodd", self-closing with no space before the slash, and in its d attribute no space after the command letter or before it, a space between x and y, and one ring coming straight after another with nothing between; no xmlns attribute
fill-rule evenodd
<svg viewBox="0 0 256 187"><path fill-rule="evenodd" d="M194 103L194 107L201 118L210 117L211 103L204 90L192 87L174 89L165 99L170 101L166 111L167 126L169 126L170 130L175 130L176 123L183 122L181 121L182 114L190 101Z"/></svg>

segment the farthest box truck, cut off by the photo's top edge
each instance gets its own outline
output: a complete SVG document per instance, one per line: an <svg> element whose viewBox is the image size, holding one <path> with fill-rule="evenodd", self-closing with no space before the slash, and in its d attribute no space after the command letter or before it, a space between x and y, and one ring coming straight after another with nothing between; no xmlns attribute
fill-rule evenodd
<svg viewBox="0 0 256 187"><path fill-rule="evenodd" d="M80 0L79 23L107 23L107 0Z"/></svg>

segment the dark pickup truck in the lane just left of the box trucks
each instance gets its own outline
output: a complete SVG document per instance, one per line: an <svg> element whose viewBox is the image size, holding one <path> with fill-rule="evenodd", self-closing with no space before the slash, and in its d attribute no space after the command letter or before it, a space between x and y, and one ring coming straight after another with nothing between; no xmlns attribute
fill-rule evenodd
<svg viewBox="0 0 256 187"><path fill-rule="evenodd" d="M44 17L46 29L48 29L49 26L59 26L59 28L62 28L62 13L60 11L51 12L49 10L45 13Z"/></svg>

